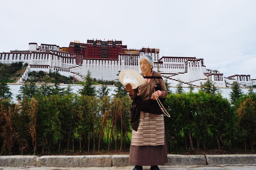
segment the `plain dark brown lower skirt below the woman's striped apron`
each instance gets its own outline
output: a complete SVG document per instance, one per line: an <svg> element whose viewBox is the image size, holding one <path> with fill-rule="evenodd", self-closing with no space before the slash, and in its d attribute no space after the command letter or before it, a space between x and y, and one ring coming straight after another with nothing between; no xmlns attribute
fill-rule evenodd
<svg viewBox="0 0 256 170"><path fill-rule="evenodd" d="M160 146L131 145L130 147L129 163L131 164L140 165L140 166L152 166L152 165L163 165L164 163L167 163L167 162L168 162L168 159L167 159L167 148L166 148L165 136L164 136L164 145L160 145Z"/></svg>

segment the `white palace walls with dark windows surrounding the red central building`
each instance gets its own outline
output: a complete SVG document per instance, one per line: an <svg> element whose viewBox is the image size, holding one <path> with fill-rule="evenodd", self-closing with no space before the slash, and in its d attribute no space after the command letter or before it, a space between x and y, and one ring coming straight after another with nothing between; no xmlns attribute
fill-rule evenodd
<svg viewBox="0 0 256 170"><path fill-rule="evenodd" d="M28 72L31 71L45 71L55 72L58 71L61 75L67 77L73 76L79 81L83 81L87 76L87 71L91 72L91 77L103 80L116 80L119 71L125 69L132 69L137 72L141 72L138 66L139 54L122 54L119 55L119 59L84 59L82 65L76 64L74 54L63 52L58 50L56 45L41 45L37 48L36 43L29 43L29 50L24 51L10 51L9 53L0 53L0 62L4 64L11 64L13 62L28 63L28 69L22 76L22 79L27 79ZM142 55L142 53L140 54ZM178 84L178 80L184 83L184 87L188 86L188 83L194 86L200 86L200 82L207 81L207 76L211 72L215 72L219 76L223 76L216 70L206 70L203 64L203 59L186 58L186 57L163 57L159 59L154 54L154 70L157 68L161 71L161 74L167 78L168 83L172 86ZM157 59L156 59L157 57ZM121 63L120 63L121 62ZM187 64L187 66L186 66ZM186 69L187 68L187 69ZM211 81L218 87L226 87L236 80L230 80L226 77L219 81L215 80L215 75L209 75ZM209 77L208 77L209 78ZM237 80L238 81L238 80ZM21 80L19 81L19 83ZM242 87L255 85L256 80L250 81L238 81Z"/></svg>

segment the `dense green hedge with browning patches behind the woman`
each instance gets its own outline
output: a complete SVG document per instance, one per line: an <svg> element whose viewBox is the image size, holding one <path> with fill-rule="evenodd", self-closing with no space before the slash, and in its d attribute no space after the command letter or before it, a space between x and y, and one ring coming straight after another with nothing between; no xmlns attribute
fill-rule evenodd
<svg viewBox="0 0 256 170"><path fill-rule="evenodd" d="M167 149L255 149L255 94L237 106L204 92L169 94L165 108ZM0 100L1 155L129 150L129 97L84 95Z"/></svg>

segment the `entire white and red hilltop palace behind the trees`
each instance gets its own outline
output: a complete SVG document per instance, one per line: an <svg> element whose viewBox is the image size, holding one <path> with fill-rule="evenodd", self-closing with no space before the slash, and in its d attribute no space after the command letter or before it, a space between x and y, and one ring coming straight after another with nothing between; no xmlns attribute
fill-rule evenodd
<svg viewBox="0 0 256 170"><path fill-rule="evenodd" d="M159 49L146 48L127 49L122 41L87 40L70 42L68 47L57 45L29 43L28 50L14 50L0 53L0 62L10 64L13 62L28 63L22 78L17 83L27 80L31 71L58 71L67 77L73 76L83 81L87 70L91 77L103 80L118 79L119 71L133 69L141 72L138 66L140 56L148 54L154 60L154 69L159 71L171 86L181 81L184 87L192 84L200 86L207 79L214 82L217 87L231 87L237 81L241 87L256 85L256 79L250 75L231 75L224 77L218 70L206 69L204 59L196 57L169 57L159 56Z"/></svg>

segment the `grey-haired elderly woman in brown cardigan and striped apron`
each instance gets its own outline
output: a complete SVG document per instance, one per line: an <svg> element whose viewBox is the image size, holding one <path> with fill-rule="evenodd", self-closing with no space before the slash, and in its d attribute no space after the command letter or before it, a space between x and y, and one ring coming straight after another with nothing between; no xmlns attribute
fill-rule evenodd
<svg viewBox="0 0 256 170"><path fill-rule="evenodd" d="M132 89L131 84L125 86L130 98L140 104L138 125L136 128L132 126L129 163L136 165L133 170L142 170L143 165L151 166L150 170L158 170L157 165L168 162L164 115L156 104L158 98L167 96L167 90L161 74L153 71L153 66L151 56L142 56L140 75L146 79L146 83L136 89Z"/></svg>

